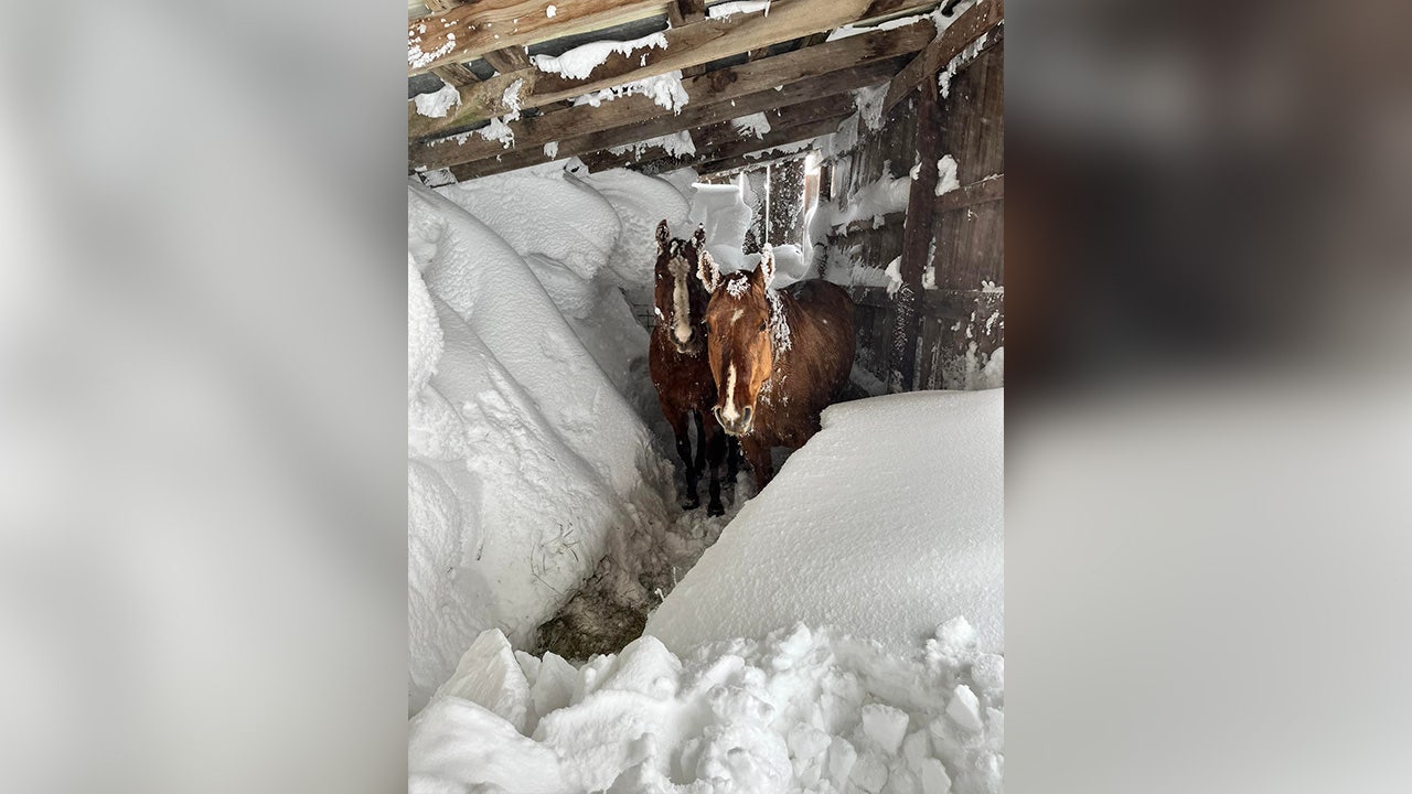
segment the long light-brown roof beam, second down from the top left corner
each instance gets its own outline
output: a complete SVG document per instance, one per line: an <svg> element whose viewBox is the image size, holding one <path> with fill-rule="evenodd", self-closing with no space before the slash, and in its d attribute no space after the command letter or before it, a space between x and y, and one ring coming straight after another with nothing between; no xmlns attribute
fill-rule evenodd
<svg viewBox="0 0 1412 794"><path fill-rule="evenodd" d="M569 79L532 68L497 75L466 96L466 107L474 109L480 114L477 119L504 116L510 112L510 103L505 102L507 92L521 109L539 107L559 99L709 64L843 24L902 11L919 11L933 4L935 0L774 0L768 16L731 14L726 18L707 18L669 28L662 34L666 38L665 48L642 47L626 55L609 55L583 79Z"/></svg>

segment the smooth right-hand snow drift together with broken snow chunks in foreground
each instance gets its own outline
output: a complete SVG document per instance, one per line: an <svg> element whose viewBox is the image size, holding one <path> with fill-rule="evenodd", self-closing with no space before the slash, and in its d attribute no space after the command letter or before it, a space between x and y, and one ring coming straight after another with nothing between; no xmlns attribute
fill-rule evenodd
<svg viewBox="0 0 1412 794"><path fill-rule="evenodd" d="M1000 791L1000 405L829 408L620 654L481 634L412 721L411 790Z"/></svg>

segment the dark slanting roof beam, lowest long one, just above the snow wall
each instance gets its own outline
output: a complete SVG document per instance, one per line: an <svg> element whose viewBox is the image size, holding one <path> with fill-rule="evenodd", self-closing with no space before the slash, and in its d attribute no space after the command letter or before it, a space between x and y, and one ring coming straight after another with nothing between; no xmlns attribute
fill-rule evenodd
<svg viewBox="0 0 1412 794"><path fill-rule="evenodd" d="M602 148L624 146L630 143L637 143L657 136L666 136L679 133L682 130L693 130L707 124L719 124L722 122L729 122L740 116L748 116L751 113L774 112L781 107L788 107L792 105L799 105L805 102L819 102L823 97L840 96L840 102L850 103L853 99L846 96L846 92L864 88L870 85L877 85L885 82L891 78L899 64L898 59L880 61L877 64L868 64L864 66L854 66L851 69L844 69L840 72L832 72L825 75L818 75L815 78L794 82L781 88L779 90L765 89L757 90L733 99L730 102L713 102L707 105L688 105L676 116L671 113L654 114L650 119L617 119L616 124L607 129L597 129L589 134L575 134L576 130L565 130L562 127L555 127L556 131L566 131L566 136L559 138L546 138L542 134L537 134L531 141L517 141L511 150L503 148L498 143L486 141L480 136L470 133L463 138L448 138L442 141L432 141L428 144L418 144L411 151L411 161L415 165L422 165L428 170L446 168L452 165L474 165L477 162L505 162L511 157L525 160L514 160L515 162L524 162L531 165L535 162L546 162L548 158L544 157L544 144L551 140L556 140L558 157L572 157L579 154L586 154L590 151L597 151ZM626 102L630 97L617 99L617 102ZM638 97L631 97L638 99ZM641 97L645 99L645 97ZM573 109L579 110L579 109ZM585 109L589 110L589 109ZM566 113L566 112L565 112ZM554 114L554 116L558 116ZM545 116L544 119L549 119ZM528 120L527 120L528 122ZM514 127L513 127L514 129ZM538 127L530 127L538 130ZM542 140L542 143L541 143ZM504 171L507 168L494 168L490 172ZM514 165L518 168L520 165ZM476 172L477 168L462 168L463 174ZM457 174L457 178L460 174Z"/></svg>

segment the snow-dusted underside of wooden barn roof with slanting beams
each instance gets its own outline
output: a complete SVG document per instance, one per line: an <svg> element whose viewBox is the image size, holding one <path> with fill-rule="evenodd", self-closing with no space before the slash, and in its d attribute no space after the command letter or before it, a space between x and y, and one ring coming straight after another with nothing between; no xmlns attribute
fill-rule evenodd
<svg viewBox="0 0 1412 794"><path fill-rule="evenodd" d="M409 165L449 181L570 155L647 172L764 162L837 129L858 89L888 85L878 96L895 105L1004 10L1003 0L414 0L408 14L408 96L422 95L422 109L408 102Z"/></svg>

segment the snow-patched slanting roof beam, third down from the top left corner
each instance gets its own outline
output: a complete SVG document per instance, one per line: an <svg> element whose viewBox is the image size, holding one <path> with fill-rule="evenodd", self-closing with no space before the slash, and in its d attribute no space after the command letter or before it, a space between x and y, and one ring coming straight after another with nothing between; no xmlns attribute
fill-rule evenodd
<svg viewBox="0 0 1412 794"><path fill-rule="evenodd" d="M682 81L682 88L686 89L686 96L689 97L688 109L714 102L731 102L748 93L772 90L775 86L789 86L798 81L815 78L826 72L919 52L932 41L932 31L931 23L918 23L895 30L830 41L818 47L775 55L774 58L754 64L716 69L709 75ZM491 78L491 81L496 79L498 78ZM472 106L474 99L469 96L470 93L462 92L462 105L453 109L445 119L409 117L409 137L422 138L449 131L465 127L472 119L484 117L484 109ZM510 122L510 130L515 136L517 147L542 147L549 141L575 134L655 119L666 113L669 110L661 107L647 96L623 96L602 107L580 106L542 114L538 119ZM498 148L498 144L496 148ZM494 157L497 154L501 153L483 147L480 155ZM473 153L467 153L463 161L476 158Z"/></svg>

